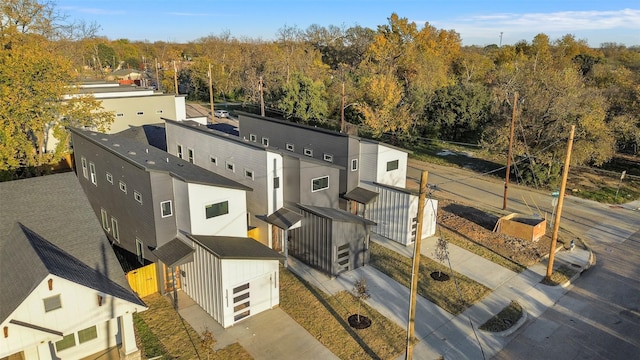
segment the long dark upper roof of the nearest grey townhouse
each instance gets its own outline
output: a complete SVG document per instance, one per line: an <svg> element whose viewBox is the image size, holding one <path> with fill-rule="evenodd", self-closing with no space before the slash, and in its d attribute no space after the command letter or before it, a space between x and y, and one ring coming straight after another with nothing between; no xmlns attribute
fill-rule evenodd
<svg viewBox="0 0 640 360"><path fill-rule="evenodd" d="M253 191L250 187L196 166L153 146L117 134L70 128L77 136L148 172L164 172L184 182ZM186 151L186 149L185 149ZM197 156L197 154L196 154Z"/></svg>

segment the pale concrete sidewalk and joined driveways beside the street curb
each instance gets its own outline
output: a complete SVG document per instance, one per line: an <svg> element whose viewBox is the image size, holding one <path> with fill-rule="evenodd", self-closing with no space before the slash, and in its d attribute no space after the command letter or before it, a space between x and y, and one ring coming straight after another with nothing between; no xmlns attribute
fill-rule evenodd
<svg viewBox="0 0 640 360"><path fill-rule="evenodd" d="M404 256L413 256L412 246L405 247L381 237L373 237L373 241ZM436 238L424 239L421 254L433 257L431 249L435 246L435 241ZM547 286L540 283L546 274L546 260L517 274L453 244L449 244L449 257L455 271L484 284L493 289L493 292L455 317L418 296L415 332L420 342L414 347L414 357L417 359L437 359L440 356L444 356L445 359L482 359L483 354L484 358L489 358L508 343L509 338L506 335L516 329L495 334L478 330L480 325L500 312L512 300L517 300L523 306L527 316L535 318L567 291L563 286ZM591 259L588 249L559 251L556 254L554 268L564 264L580 271L590 266ZM352 291L355 281L364 277L371 295L366 300L367 303L399 326L407 327L409 289L372 266L329 278L296 259L289 258L289 269L327 294L343 290ZM403 358L404 355L399 357Z"/></svg>

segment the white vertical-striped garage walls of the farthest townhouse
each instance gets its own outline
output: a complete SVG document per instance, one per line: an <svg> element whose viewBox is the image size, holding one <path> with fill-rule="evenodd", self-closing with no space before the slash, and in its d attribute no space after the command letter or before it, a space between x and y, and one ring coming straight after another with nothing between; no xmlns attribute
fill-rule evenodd
<svg viewBox="0 0 640 360"><path fill-rule="evenodd" d="M409 191L382 185L371 185L378 192L378 198L367 205L366 218L374 221L372 231L403 245L415 241L418 214L418 196ZM422 223L422 238L435 234L436 200L429 199L425 203Z"/></svg>

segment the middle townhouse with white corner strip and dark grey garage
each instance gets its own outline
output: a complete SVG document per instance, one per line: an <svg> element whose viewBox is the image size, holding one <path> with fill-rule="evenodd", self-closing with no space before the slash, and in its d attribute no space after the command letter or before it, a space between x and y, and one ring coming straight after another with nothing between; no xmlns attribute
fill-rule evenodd
<svg viewBox="0 0 640 360"><path fill-rule="evenodd" d="M250 236L330 275L368 262L371 221L338 209L341 166L197 122L165 122L170 153L253 188Z"/></svg>

